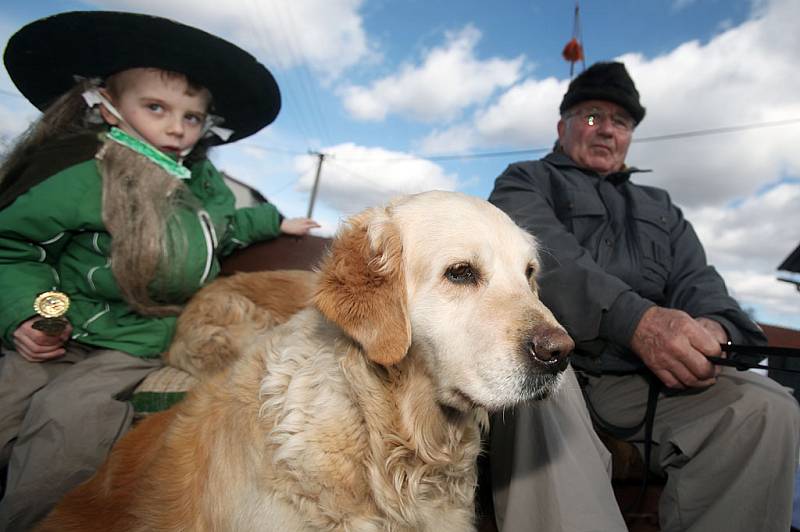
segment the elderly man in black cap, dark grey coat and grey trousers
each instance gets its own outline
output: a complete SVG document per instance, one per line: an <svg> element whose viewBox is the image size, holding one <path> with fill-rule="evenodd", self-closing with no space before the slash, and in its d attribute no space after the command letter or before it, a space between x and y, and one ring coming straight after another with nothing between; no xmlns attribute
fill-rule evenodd
<svg viewBox="0 0 800 532"><path fill-rule="evenodd" d="M553 152L509 166L489 200L541 243L542 300L576 342L581 386L569 373L552 400L493 420L500 530L626 530L588 411L641 443L651 390L661 529L789 530L800 409L770 379L706 358L765 337L669 195L631 181L645 109L625 66L588 68L560 111Z"/></svg>

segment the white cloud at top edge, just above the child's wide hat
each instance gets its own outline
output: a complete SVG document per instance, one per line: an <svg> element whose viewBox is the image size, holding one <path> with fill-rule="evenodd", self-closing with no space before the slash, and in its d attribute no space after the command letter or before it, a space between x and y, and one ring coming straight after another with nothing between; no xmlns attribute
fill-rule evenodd
<svg viewBox="0 0 800 532"><path fill-rule="evenodd" d="M159 15L230 39L268 67L307 65L336 77L372 54L363 0L99 0L104 9Z"/></svg>

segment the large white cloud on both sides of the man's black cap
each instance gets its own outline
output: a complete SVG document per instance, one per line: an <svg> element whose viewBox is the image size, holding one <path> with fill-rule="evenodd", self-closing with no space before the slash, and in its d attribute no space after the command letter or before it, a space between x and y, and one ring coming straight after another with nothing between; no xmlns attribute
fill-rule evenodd
<svg viewBox="0 0 800 532"><path fill-rule="evenodd" d="M707 43L691 41L655 58L627 54L647 116L634 138L800 118L797 0L759 2L753 18ZM567 80L525 79L471 120L420 140L427 152L478 146L547 147L555 140ZM683 205L724 205L781 175L800 175L800 124L634 143L628 161L653 168L640 180Z"/></svg>

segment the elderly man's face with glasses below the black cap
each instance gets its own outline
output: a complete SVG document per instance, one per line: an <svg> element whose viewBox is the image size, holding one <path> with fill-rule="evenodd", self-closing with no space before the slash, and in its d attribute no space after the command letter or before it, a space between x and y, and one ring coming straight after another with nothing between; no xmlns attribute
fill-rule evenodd
<svg viewBox="0 0 800 532"><path fill-rule="evenodd" d="M619 105L587 100L558 121L558 140L579 166L607 175L625 165L634 127L631 116Z"/></svg>

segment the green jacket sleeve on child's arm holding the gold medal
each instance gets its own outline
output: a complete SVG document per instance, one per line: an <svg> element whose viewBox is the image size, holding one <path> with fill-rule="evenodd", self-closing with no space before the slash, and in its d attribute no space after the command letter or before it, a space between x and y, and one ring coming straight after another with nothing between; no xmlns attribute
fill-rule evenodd
<svg viewBox="0 0 800 532"><path fill-rule="evenodd" d="M0 211L0 333L8 347L17 327L35 313L33 300L58 289L55 265L85 201L80 187L53 176Z"/></svg>

